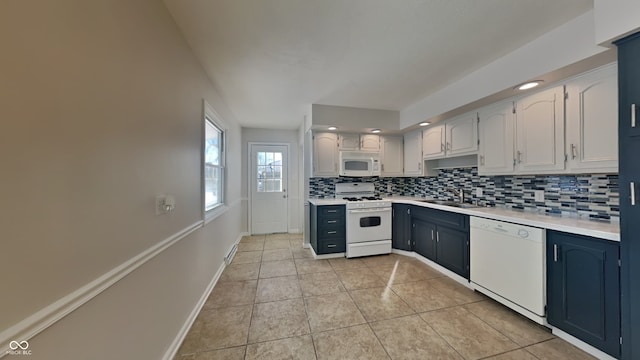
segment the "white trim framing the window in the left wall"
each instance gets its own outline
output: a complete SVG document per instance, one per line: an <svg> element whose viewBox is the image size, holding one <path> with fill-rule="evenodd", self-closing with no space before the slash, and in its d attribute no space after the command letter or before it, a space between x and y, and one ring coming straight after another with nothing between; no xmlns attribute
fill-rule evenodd
<svg viewBox="0 0 640 360"><path fill-rule="evenodd" d="M204 220L205 225L208 224L209 222L213 221L215 218L221 216L222 214L224 214L225 212L227 212L227 210L229 209L229 206L227 204L227 125L225 124L225 122L222 120L222 118L220 117L220 115L218 115L218 113L213 109L213 107L211 107L211 105L209 105L209 103L203 99L202 101L203 103L203 110L202 110L202 145L200 146L200 152L201 152L201 158L202 158L202 163L201 163L201 189L200 189L200 194L201 194L201 210L202 210L202 218ZM216 206L214 206L213 208L206 210L205 211L205 182L204 182L204 169L205 169L205 163L204 163L204 158L205 158L205 154L204 154L204 143L206 141L206 126L207 126L207 121L210 121L211 123L213 123L216 127L218 127L221 131L222 131L222 147L220 149L222 156L220 158L220 163L224 169L223 171L223 176L222 176L222 202L220 204L217 204Z"/></svg>

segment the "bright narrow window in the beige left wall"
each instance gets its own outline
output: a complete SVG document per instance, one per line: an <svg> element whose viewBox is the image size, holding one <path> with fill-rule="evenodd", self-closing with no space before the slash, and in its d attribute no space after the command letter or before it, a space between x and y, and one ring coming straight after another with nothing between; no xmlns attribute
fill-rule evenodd
<svg viewBox="0 0 640 360"><path fill-rule="evenodd" d="M224 204L224 129L219 118L205 103L204 211Z"/></svg>

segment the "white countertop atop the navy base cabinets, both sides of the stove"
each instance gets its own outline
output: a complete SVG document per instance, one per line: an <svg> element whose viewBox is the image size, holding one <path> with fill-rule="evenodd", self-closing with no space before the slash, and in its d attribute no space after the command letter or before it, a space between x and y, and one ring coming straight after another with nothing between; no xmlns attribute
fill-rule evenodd
<svg viewBox="0 0 640 360"><path fill-rule="evenodd" d="M600 239L620 241L620 224L615 222L610 223L579 217L549 215L504 207L457 208L446 205L424 203L419 201L424 200L423 198L408 196L389 197L385 198L385 200L391 200L394 203L411 204L432 209L451 211L470 216L482 217L485 219L506 221L543 229L564 231ZM309 203L320 206L343 205L347 202L342 199L309 199Z"/></svg>

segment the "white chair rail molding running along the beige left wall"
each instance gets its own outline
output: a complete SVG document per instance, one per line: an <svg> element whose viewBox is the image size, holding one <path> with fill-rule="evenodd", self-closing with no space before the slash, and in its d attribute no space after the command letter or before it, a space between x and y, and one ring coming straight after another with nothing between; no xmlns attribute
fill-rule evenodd
<svg viewBox="0 0 640 360"><path fill-rule="evenodd" d="M76 289L57 301L31 314L19 323L0 333L0 358L7 354L9 341L14 339L30 340L49 326L64 318L89 300L98 296L120 279L124 278L156 255L169 248L178 241L203 226L203 221L197 221L161 242L149 247L109 272L96 278L90 283Z"/></svg>

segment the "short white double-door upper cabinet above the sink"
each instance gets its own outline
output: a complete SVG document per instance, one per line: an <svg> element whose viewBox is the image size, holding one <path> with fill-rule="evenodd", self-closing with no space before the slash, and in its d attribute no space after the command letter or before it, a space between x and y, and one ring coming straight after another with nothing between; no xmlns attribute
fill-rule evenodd
<svg viewBox="0 0 640 360"><path fill-rule="evenodd" d="M422 131L425 160L474 154L478 151L478 118L465 114Z"/></svg>

